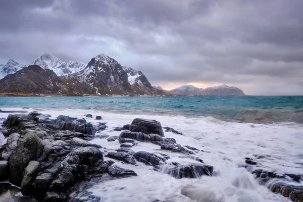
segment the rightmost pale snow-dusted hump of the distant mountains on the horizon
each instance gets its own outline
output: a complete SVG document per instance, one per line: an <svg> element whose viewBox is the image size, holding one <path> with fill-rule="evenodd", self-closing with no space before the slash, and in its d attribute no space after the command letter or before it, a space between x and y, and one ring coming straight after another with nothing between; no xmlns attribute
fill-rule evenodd
<svg viewBox="0 0 303 202"><path fill-rule="evenodd" d="M245 95L241 89L234 86L228 86L225 84L202 89L197 94L198 95L237 95L237 96Z"/></svg>

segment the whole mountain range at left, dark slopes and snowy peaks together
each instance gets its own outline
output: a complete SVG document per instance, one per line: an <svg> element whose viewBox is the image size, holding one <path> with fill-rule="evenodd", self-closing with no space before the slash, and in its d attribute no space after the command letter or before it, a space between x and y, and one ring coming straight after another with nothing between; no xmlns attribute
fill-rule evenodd
<svg viewBox="0 0 303 202"><path fill-rule="evenodd" d="M6 68L0 66L5 76L0 80L0 92L97 95L164 93L151 86L142 72L122 67L105 54L92 58L86 66L81 62L62 62L51 54L43 54L28 67L10 64Z"/></svg>

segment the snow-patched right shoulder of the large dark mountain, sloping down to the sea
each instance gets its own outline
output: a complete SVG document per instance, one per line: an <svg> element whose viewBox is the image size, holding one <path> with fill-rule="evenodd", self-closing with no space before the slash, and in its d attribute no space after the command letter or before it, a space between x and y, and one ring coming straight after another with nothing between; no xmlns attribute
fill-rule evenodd
<svg viewBox="0 0 303 202"><path fill-rule="evenodd" d="M147 94L160 93L158 89L151 86L147 78L141 71L136 71L130 67L122 67L127 73L128 82L132 86L134 92L144 92ZM135 89L137 88L137 89Z"/></svg>

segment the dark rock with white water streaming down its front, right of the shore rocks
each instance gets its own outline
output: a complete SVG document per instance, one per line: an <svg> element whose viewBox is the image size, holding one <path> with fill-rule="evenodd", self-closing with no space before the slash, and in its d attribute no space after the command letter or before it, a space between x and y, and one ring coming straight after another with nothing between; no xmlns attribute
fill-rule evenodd
<svg viewBox="0 0 303 202"><path fill-rule="evenodd" d="M209 165L190 164L190 165L166 165L166 173L180 178L199 178L202 175L212 176L214 167Z"/></svg>

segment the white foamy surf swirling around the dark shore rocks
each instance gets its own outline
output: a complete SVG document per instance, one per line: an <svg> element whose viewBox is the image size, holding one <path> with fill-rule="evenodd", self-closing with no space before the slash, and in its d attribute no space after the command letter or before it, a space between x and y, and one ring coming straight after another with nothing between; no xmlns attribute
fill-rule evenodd
<svg viewBox="0 0 303 202"><path fill-rule="evenodd" d="M31 110L33 109L29 111ZM263 159L258 159L258 164L265 170L302 174L303 126L299 124L231 123L211 117L112 114L93 109L44 110L41 113L50 114L53 118L61 114L77 118L84 118L86 114L92 114L93 118L101 115L102 122L108 126L101 134L110 136L119 135L120 132L113 129L130 124L134 118L155 119L162 126L172 127L184 134L165 132L166 137L175 138L181 145L204 150L194 156L203 159L205 164L214 166L213 177L175 179L164 172L153 170L151 166L141 163L134 166L115 161L115 165L133 170L138 176L110 180L90 188L93 194L102 197L102 201L290 201L260 185L255 175L239 165L245 163L245 157L256 159L256 155L263 155ZM7 115L0 114L3 117ZM88 118L86 120L92 124L99 122ZM100 133L96 135L98 134ZM91 142L108 150L120 147L118 141L108 142L106 139L95 138ZM151 143L140 142L132 149L166 154L172 162L196 163L185 155L163 151L159 145Z"/></svg>

